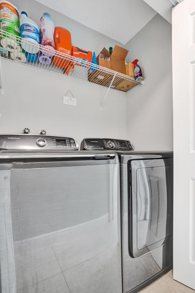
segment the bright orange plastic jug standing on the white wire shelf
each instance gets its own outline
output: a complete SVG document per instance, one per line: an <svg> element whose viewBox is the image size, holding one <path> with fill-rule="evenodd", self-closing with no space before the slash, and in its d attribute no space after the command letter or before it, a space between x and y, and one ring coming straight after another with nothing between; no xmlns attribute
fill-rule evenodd
<svg viewBox="0 0 195 293"><path fill-rule="evenodd" d="M69 30L64 27L55 27L54 43L56 50L67 55L71 55L72 44ZM69 65L69 61L64 60L59 54L59 56L54 56L53 64L60 68L66 68Z"/></svg>

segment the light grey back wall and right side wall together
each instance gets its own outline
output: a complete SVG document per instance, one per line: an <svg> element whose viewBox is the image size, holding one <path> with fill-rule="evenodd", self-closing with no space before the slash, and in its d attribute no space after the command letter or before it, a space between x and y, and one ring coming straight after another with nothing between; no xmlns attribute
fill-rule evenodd
<svg viewBox="0 0 195 293"><path fill-rule="evenodd" d="M122 46L34 0L12 3L38 24L44 12L50 13L56 26L70 30L73 45L96 55L103 47ZM111 89L102 111L107 88L2 60L0 133L29 127L32 134L45 129L47 134L73 136L79 145L84 137L109 137L130 139L137 150L172 149L171 25L155 16L126 48L127 61L140 60L146 83L127 94ZM62 104L68 90L77 98L76 107Z"/></svg>

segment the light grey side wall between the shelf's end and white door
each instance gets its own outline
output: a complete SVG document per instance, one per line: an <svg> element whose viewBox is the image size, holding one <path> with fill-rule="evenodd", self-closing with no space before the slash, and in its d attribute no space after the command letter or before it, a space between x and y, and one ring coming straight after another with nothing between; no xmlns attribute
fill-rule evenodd
<svg viewBox="0 0 195 293"><path fill-rule="evenodd" d="M171 24L156 15L126 44L146 80L127 92L127 138L137 150L173 149L171 38Z"/></svg>

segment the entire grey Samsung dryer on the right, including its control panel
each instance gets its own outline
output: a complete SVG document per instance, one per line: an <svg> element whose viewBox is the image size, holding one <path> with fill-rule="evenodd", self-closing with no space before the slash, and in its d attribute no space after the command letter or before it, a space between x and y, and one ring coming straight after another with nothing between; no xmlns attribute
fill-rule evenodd
<svg viewBox="0 0 195 293"><path fill-rule="evenodd" d="M119 156L122 293L135 293L172 269L173 152L136 152L130 141L107 138L85 138L80 150Z"/></svg>

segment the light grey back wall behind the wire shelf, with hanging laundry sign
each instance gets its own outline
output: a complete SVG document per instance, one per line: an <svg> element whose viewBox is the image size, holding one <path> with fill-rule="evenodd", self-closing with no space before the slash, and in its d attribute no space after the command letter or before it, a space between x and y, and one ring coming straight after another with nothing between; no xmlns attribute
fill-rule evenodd
<svg viewBox="0 0 195 293"><path fill-rule="evenodd" d="M50 13L56 26L70 30L73 45L96 54L104 46L121 45L38 2L12 3L37 23L44 12ZM79 145L86 137L126 139L126 93L111 89L100 111L107 88L8 60L2 60L2 72L0 133L22 133L28 127L31 134L38 134L44 129L48 135L73 136ZM77 98L76 107L62 104L68 90Z"/></svg>

